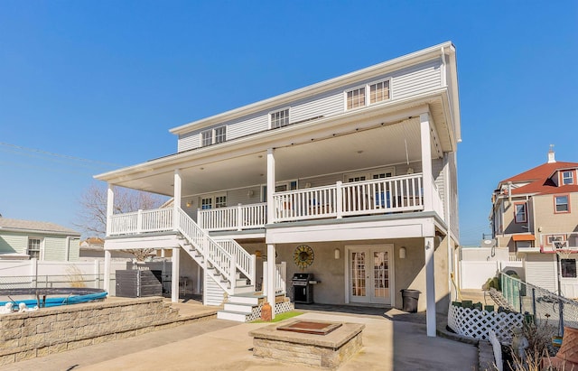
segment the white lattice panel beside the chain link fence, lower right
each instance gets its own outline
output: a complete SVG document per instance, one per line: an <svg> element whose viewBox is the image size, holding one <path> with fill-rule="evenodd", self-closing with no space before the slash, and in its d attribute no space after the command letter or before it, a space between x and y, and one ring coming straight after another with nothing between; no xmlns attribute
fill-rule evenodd
<svg viewBox="0 0 578 371"><path fill-rule="evenodd" d="M522 327L524 316L520 313L480 311L451 305L448 326L457 334L473 339L489 339L489 330L496 333L502 344L512 341L512 329Z"/></svg>

